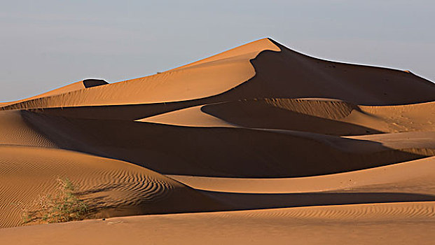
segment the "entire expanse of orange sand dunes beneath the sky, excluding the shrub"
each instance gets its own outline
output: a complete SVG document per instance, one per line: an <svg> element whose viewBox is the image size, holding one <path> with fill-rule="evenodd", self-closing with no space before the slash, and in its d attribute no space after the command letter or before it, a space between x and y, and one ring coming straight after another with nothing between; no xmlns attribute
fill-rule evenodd
<svg viewBox="0 0 435 245"><path fill-rule="evenodd" d="M8 244L435 238L435 84L410 72L263 38L153 76L0 103L0 126ZM76 184L88 221L23 223L14 204L38 209L57 178Z"/></svg>

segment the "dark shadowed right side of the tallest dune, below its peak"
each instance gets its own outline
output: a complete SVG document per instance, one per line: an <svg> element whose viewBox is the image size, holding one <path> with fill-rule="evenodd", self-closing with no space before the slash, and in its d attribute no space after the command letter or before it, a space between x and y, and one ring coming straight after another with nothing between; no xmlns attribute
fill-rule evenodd
<svg viewBox="0 0 435 245"><path fill-rule="evenodd" d="M256 76L226 96L251 98L328 98L354 104L394 105L434 101L435 85L412 73L315 59L279 45L252 64ZM291 84L291 85L290 85ZM413 95L408 90L412 87Z"/></svg>

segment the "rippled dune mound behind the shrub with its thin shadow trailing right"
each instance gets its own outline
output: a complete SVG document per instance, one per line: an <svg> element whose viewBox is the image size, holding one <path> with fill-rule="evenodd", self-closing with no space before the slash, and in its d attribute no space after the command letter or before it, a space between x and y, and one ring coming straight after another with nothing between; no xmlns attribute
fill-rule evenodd
<svg viewBox="0 0 435 245"><path fill-rule="evenodd" d="M256 195L228 192L210 193L188 188L149 169L126 162L99 158L83 153L51 148L1 146L0 187L1 226L20 224L20 209L13 202L32 202L38 195L50 193L55 179L68 177L81 187L83 200L95 204L92 217L135 214L168 214L178 212L300 207L312 204L349 204L371 202L411 202L434 200L433 193L415 195L354 190L338 193L310 192L308 195ZM19 155L19 157L17 157ZM433 179L433 178L430 178ZM430 181L428 181L430 184ZM421 184L421 183L420 183ZM426 183L427 184L427 183Z"/></svg>

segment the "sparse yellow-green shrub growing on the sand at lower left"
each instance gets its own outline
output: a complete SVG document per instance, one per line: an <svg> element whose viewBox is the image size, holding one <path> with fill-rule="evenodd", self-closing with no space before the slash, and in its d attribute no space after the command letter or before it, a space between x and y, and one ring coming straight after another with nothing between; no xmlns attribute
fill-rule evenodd
<svg viewBox="0 0 435 245"><path fill-rule="evenodd" d="M40 195L32 205L22 202L17 206L22 211L23 223L61 223L82 220L88 214L89 207L76 193L76 186L69 179L57 179L56 195ZM31 207L36 207L30 211Z"/></svg>

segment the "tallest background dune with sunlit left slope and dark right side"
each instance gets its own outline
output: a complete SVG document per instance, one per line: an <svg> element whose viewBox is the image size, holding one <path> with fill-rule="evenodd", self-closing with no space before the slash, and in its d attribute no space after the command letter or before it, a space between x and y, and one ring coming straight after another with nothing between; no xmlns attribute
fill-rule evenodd
<svg viewBox="0 0 435 245"><path fill-rule="evenodd" d="M263 52L271 51L271 52ZM413 96L407 92L413 87ZM125 95L125 94L128 94ZM2 106L63 108L193 103L255 98L331 98L354 104L415 104L435 100L435 85L404 71L329 62L263 38L177 69L102 87ZM198 100L198 102L191 102ZM185 106L186 107L186 106Z"/></svg>

